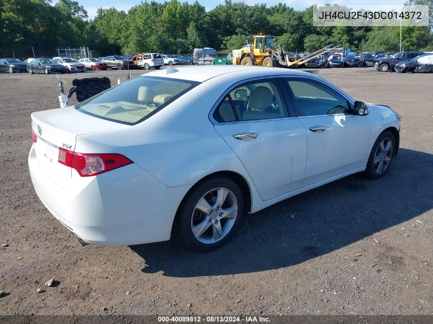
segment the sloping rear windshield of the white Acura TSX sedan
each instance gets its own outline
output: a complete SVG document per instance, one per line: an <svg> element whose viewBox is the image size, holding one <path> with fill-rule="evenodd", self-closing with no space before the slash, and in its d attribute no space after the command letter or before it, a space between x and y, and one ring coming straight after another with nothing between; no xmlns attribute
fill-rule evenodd
<svg viewBox="0 0 433 324"><path fill-rule="evenodd" d="M139 76L76 105L76 109L106 120L135 125L187 93L199 82Z"/></svg>

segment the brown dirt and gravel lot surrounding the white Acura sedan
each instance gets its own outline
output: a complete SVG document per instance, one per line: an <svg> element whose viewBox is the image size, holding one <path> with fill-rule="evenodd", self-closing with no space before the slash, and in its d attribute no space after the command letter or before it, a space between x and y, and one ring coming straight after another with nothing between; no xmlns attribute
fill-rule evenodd
<svg viewBox="0 0 433 324"><path fill-rule="evenodd" d="M209 254L81 247L27 168L30 113L58 107L56 79L0 74L0 314L433 314L433 75L308 71L403 116L395 164L248 215Z"/></svg>

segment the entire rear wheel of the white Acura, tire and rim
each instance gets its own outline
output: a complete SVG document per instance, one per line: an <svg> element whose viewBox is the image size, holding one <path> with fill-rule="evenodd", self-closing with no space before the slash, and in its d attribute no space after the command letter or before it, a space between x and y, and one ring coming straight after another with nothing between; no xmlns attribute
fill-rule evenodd
<svg viewBox="0 0 433 324"><path fill-rule="evenodd" d="M242 191L233 180L218 177L204 181L178 211L180 240L191 250L213 251L231 239L242 214Z"/></svg>

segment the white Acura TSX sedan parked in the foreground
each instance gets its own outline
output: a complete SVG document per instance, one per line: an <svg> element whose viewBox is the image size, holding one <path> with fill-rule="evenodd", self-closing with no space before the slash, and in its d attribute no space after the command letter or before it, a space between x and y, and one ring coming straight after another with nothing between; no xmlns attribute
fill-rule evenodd
<svg viewBox="0 0 433 324"><path fill-rule="evenodd" d="M363 172L381 178L400 116L301 71L169 67L32 113L34 188L81 244L210 251L246 212Z"/></svg>

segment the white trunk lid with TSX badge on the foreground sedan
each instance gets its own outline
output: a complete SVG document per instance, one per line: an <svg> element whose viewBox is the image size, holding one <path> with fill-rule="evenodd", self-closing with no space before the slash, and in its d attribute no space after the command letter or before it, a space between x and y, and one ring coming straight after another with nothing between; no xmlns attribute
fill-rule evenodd
<svg viewBox="0 0 433 324"><path fill-rule="evenodd" d="M40 170L64 187L71 180L72 168L58 162L59 148L74 151L78 135L128 127L81 113L73 106L35 112L31 119L32 131L37 136L33 145Z"/></svg>

